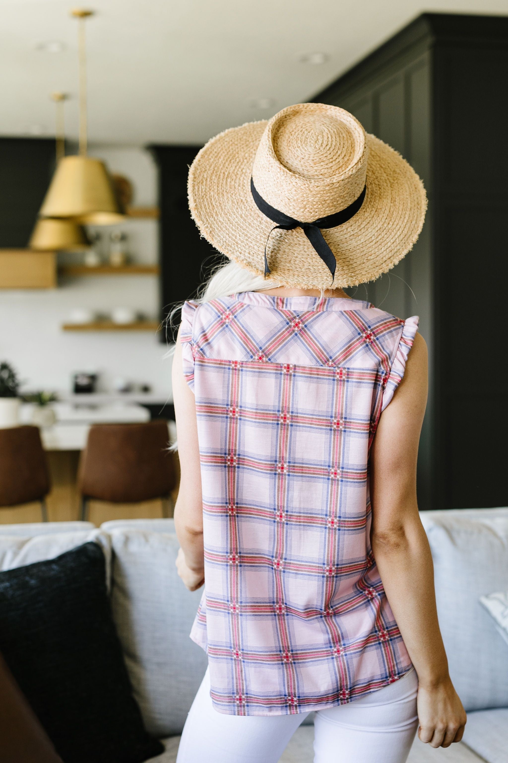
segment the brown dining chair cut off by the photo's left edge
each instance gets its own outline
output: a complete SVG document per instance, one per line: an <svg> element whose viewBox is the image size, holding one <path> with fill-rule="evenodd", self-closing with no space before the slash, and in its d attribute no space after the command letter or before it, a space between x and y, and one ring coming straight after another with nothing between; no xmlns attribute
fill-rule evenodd
<svg viewBox="0 0 508 763"><path fill-rule="evenodd" d="M0 507L40 501L43 521L47 522L46 495L50 489L39 427L0 429Z"/></svg>

